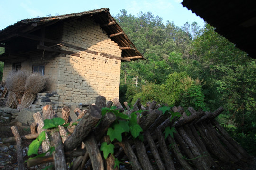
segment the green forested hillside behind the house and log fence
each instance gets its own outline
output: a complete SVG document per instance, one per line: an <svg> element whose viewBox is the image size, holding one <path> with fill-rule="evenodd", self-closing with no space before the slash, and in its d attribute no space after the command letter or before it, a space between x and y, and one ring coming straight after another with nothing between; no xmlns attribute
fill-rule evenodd
<svg viewBox="0 0 256 170"><path fill-rule="evenodd" d="M122 62L119 100L157 102L214 111L219 122L247 151L256 155L256 59L205 23L178 27L151 12L121 10L119 25L145 61ZM137 84L136 82L137 78Z"/></svg>

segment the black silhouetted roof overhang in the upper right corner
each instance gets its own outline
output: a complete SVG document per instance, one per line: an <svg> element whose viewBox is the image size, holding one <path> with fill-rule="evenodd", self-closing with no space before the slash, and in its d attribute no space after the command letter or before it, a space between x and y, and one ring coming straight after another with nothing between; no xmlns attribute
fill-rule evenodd
<svg viewBox="0 0 256 170"><path fill-rule="evenodd" d="M183 0L196 15L216 28L216 32L236 47L256 58L256 2L254 0Z"/></svg>

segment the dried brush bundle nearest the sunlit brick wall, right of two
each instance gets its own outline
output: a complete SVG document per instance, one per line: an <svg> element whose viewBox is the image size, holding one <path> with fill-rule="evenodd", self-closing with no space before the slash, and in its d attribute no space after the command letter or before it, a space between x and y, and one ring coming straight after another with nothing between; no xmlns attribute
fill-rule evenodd
<svg viewBox="0 0 256 170"><path fill-rule="evenodd" d="M46 87L46 78L40 73L31 74L25 84L25 93L21 98L21 103L18 105L18 110L29 108L34 102L37 93L41 92Z"/></svg>

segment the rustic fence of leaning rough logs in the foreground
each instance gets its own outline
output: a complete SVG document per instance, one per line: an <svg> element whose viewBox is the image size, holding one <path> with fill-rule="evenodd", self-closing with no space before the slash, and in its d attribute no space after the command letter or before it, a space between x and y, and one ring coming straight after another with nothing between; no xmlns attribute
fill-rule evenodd
<svg viewBox="0 0 256 170"><path fill-rule="evenodd" d="M163 114L158 110L160 104L155 101L147 102L146 106L143 106L140 100L137 100L131 108L127 102L124 104L125 109L118 99L106 104L105 97L99 96L95 105L90 105L88 110L81 111L77 108L75 112L78 119L81 118L77 126L73 125L68 129L58 126L47 130L48 136L46 135L46 140L42 143L42 149L46 152L50 146L54 146L53 154L28 160L27 165L54 162L55 170L89 170L90 167L93 170L117 170L117 167L114 168L116 158L126 161L125 164L133 170L175 170L181 167L184 170L211 170L220 163L236 164L251 158L214 120L223 111L222 107L214 112L196 111L189 107L187 112L190 116L187 116L182 107L173 107L169 112L178 112L182 116L172 118L171 114ZM106 133L118 118L111 112L102 117L101 108L110 108L112 105L126 115L143 110L137 113L137 123L143 129L144 140L123 135L122 142L112 142L115 146L114 153L103 159L99 148L103 142L110 143L110 137ZM36 123L31 126L31 135L20 137L15 127L12 127L17 142L20 169L24 169L22 149L18 147L20 141L36 138L44 130L43 119L56 116L50 105L43 108L42 115L39 112L34 114ZM66 123L71 121L69 108L64 107L62 115ZM164 137L166 127L175 128L174 137ZM67 131L72 134L67 135ZM4 142L15 139L4 139ZM71 161L72 166L68 167L67 163Z"/></svg>

